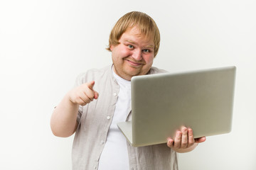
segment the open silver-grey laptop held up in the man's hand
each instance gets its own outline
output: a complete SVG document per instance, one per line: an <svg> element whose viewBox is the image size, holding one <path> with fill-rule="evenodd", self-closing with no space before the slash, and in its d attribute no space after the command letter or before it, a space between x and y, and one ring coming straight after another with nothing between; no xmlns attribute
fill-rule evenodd
<svg viewBox="0 0 256 170"><path fill-rule="evenodd" d="M235 67L132 77L132 121L118 123L134 147L167 142L182 125L194 137L228 133Z"/></svg>

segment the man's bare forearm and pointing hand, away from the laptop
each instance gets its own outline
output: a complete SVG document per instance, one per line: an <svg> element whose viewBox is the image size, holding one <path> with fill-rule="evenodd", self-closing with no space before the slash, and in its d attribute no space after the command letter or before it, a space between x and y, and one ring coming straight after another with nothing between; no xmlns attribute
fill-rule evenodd
<svg viewBox="0 0 256 170"><path fill-rule="evenodd" d="M79 106L85 106L99 94L93 90L95 81L82 84L66 94L62 101L53 111L50 119L50 128L53 135L58 137L69 137L73 135L78 127L77 116Z"/></svg>

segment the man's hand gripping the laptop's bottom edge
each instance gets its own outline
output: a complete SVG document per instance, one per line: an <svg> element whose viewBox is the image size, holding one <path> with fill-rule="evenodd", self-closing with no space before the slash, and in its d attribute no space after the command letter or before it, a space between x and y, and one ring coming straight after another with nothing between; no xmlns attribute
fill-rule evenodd
<svg viewBox="0 0 256 170"><path fill-rule="evenodd" d="M206 137L193 138L193 130L191 128L182 127L181 131L176 132L176 137L167 139L167 146L174 149L178 153L191 152L196 148L198 143L205 142Z"/></svg>

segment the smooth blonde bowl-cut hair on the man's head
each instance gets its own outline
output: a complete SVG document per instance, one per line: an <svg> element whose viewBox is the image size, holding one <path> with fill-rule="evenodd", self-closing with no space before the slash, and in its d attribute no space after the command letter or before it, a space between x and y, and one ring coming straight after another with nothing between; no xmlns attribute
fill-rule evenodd
<svg viewBox="0 0 256 170"><path fill-rule="evenodd" d="M127 28L133 28L134 26L137 27L142 35L145 35L146 37L149 35L153 35L154 57L156 57L160 45L159 28L156 26L153 18L146 15L146 13L138 11L126 13L124 16L119 18L110 33L109 45L107 47L107 50L111 51L111 45L119 45L119 39L121 38L122 34L127 30Z"/></svg>

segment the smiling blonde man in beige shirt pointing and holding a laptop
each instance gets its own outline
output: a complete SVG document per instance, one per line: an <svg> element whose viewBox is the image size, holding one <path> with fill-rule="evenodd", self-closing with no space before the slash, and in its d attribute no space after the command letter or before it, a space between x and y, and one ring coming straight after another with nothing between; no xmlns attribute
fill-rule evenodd
<svg viewBox="0 0 256 170"><path fill-rule="evenodd" d="M118 122L131 120L131 78L165 72L151 67L159 44L151 17L125 14L110 34L112 66L81 74L75 89L55 108L53 134L68 137L75 132L73 169L178 169L176 152L189 152L206 140L194 140L192 130L182 127L174 139L166 139L167 145L132 147L117 129Z"/></svg>

